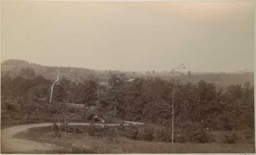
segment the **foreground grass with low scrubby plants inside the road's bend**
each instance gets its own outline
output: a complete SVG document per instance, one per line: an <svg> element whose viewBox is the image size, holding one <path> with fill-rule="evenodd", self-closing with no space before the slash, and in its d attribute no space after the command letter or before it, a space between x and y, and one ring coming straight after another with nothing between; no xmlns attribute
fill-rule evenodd
<svg viewBox="0 0 256 155"><path fill-rule="evenodd" d="M141 126L144 128L145 126ZM55 153L253 153L254 144L247 142L236 143L188 143L177 142L174 145L168 142L157 142L154 138L147 139L147 134L143 136L128 136L134 133L139 126L69 126L69 128L79 128L81 133L64 133L59 131L61 137L53 137L53 126L31 128L27 132L19 133L16 138L35 140L38 142L51 143L59 148L51 150ZM101 130L100 130L101 128ZM135 129L137 131L137 129ZM137 131L138 132L138 131ZM139 132L142 132L141 130ZM115 133L115 134L113 134ZM213 133L215 139L220 139L221 132ZM143 140L141 140L141 138ZM252 137L251 137L252 138ZM161 140L162 141L162 140ZM46 151L47 152L47 151ZM46 153L40 152L40 153ZM28 152L25 152L28 153ZM31 153L38 153L34 151Z"/></svg>

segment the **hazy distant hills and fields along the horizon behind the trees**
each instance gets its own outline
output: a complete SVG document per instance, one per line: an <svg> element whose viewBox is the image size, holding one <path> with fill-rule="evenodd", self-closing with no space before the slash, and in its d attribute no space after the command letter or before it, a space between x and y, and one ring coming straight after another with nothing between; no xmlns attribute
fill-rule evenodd
<svg viewBox="0 0 256 155"><path fill-rule="evenodd" d="M33 68L37 75L42 75L46 77L46 79L55 79L57 75L57 70L59 67L52 66L42 66L35 63L29 63L24 60L14 60L9 59L5 60L1 63L1 73L10 73L10 74L19 74L20 69L22 68ZM78 68L78 67L62 67L62 72L72 71L72 74L78 77L79 80L84 80L89 76L97 77L98 81L108 81L109 70L93 70L88 68ZM134 79L136 77L160 77L163 80L171 80L173 79L172 75L162 74L162 73L150 73L150 74L141 74L124 72L129 79ZM229 85L241 84L243 85L245 82L250 82L251 85L254 85L254 76L253 72L242 72L242 73L193 73L192 76L182 75L176 76L177 79L180 79L181 82L192 82L197 83L200 80L204 80L206 82L214 83L218 89L226 89ZM74 80L74 79L72 79Z"/></svg>

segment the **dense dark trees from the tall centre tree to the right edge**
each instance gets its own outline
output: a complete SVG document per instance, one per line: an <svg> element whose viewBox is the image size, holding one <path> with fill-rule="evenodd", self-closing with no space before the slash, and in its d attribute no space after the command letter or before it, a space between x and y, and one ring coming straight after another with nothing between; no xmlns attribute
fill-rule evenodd
<svg viewBox="0 0 256 155"><path fill-rule="evenodd" d="M254 87L249 82L230 85L223 92L205 81L174 83L158 77L125 81L124 74L111 74L110 88L99 96L102 110L116 109L121 119L170 126L175 84L174 126L198 123L213 131L254 128Z"/></svg>

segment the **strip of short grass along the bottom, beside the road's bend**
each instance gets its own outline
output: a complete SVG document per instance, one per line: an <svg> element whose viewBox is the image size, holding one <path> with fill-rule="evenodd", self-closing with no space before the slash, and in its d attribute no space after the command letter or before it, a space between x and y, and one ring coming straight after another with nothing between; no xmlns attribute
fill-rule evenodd
<svg viewBox="0 0 256 155"><path fill-rule="evenodd" d="M72 134L61 132L60 138L53 138L51 126L31 128L15 137L55 144L60 149L30 153L254 153L253 143L235 144L199 144L199 143L165 143L131 140L116 137L113 141L108 138L95 138L87 133Z"/></svg>

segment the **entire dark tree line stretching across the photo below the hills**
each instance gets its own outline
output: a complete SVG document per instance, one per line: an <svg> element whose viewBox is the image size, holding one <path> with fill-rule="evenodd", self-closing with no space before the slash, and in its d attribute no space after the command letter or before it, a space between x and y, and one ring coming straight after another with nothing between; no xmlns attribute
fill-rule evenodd
<svg viewBox="0 0 256 155"><path fill-rule="evenodd" d="M174 117L176 130L195 124L211 131L254 129L254 88L249 82L230 85L224 92L205 81L174 83L158 77L127 81L120 72L111 72L109 76L109 86L99 85L93 77L80 82L63 78L54 88L53 101L84 104L89 108L97 105L97 112L110 117L165 127L172 126ZM15 77L1 76L1 98L47 102L52 84L53 81L25 68Z"/></svg>

